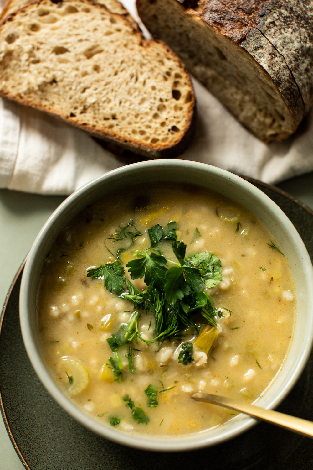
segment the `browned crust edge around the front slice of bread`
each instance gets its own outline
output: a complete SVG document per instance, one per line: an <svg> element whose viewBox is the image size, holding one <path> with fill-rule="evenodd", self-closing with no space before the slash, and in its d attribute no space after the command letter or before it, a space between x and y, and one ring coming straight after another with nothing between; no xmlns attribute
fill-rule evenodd
<svg viewBox="0 0 313 470"><path fill-rule="evenodd" d="M20 10L12 13L9 15L5 20L0 24L0 35L2 32L2 28L5 24L7 23L12 23L15 19L16 16L18 16L20 13L26 12L30 8L34 8L34 6L38 7L41 4L45 3L47 0L39 0L37 2L33 2L30 5L27 5L26 7L21 8ZM186 81L190 89L190 106L189 110L187 112L187 119L186 119L186 125L182 131L182 136L180 138L177 138L177 140L172 143L172 144L162 144L161 146L151 144L151 143L146 143L144 141L138 142L135 139L125 139L121 137L118 133L110 131L110 130L102 130L102 129L95 129L94 126L88 124L88 123L80 123L79 120L73 116L66 116L64 114L61 114L58 110L57 105L53 105L53 103L50 103L48 106L43 106L39 103L34 103L31 100L27 100L25 98L22 98L20 96L16 96L14 94L6 93L3 92L3 90L0 90L0 95L4 96L12 101L15 101L19 104L22 104L24 106L29 106L32 108L36 108L38 110L44 111L48 114L57 116L61 118L63 121L74 125L80 129L83 129L84 131L90 133L93 137L96 138L96 140L99 142L101 141L101 145L110 151L115 151L115 153L118 154L120 158L124 158L123 161L127 161L128 155L137 154L142 157L148 158L148 159L153 159L153 158L164 158L164 157L175 157L182 153L185 148L187 148L188 145L190 145L192 138L194 136L194 130L195 130L195 95L194 95L194 90L191 82L191 78L189 76L189 73L183 64L183 62L173 53L173 51L165 45L161 40L153 41L153 40L146 40L142 34L142 32L139 29L135 29L133 25L125 18L124 16L121 16L119 14L112 13L110 10L108 10L104 5L95 3L92 0L76 0L80 3L84 3L87 5L92 5L93 8L100 8L100 9L105 9L108 12L110 12L111 16L119 16L120 21L126 22L129 26L131 26L133 30L133 34L137 35L140 38L141 41L141 46L144 47L145 49L148 49L149 47L155 45L157 43L160 45L161 49L163 51L170 55L175 61L180 69L186 74ZM62 2L60 2L62 3ZM64 3L68 3L67 0L64 1ZM139 158L140 160L140 158Z"/></svg>

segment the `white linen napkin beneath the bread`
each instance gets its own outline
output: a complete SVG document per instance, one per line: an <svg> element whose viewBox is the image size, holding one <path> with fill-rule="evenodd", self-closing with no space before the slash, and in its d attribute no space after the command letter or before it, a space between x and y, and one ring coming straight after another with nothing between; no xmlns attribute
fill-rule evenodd
<svg viewBox="0 0 313 470"><path fill-rule="evenodd" d="M0 0L1 8L3 3ZM135 0L122 3L138 20ZM197 131L193 143L179 158L272 184L313 170L312 110L294 135L266 145L244 129L197 80L193 79L193 84ZM122 163L84 131L0 98L0 188L68 195L119 166Z"/></svg>

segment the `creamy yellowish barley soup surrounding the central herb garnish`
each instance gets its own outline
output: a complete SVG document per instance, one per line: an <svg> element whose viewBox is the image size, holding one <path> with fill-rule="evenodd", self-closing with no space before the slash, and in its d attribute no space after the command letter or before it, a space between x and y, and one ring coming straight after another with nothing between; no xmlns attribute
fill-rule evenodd
<svg viewBox="0 0 313 470"><path fill-rule="evenodd" d="M214 302L217 327L204 327L207 319L195 310L191 318L198 331L182 326L178 337L147 343L155 337L154 316L138 311L138 333L145 341L138 338L136 344L134 338L119 347L119 365L107 339L121 324L129 325L134 304L109 292L103 278L87 277L88 270L116 262L117 255L123 266L138 259L134 255L152 244L147 229L157 224L163 237L174 233L186 244L186 258L213 253L221 260L221 281L204 287ZM179 266L171 240L156 249ZM132 282L139 292L145 290L144 278ZM252 402L270 385L290 345L294 296L285 257L249 211L201 188L134 188L87 207L59 235L38 290L39 335L59 386L100 422L131 433L190 434L235 415L195 402L193 392ZM218 335L207 354L197 342L204 328ZM183 344L191 345L183 346L189 348L186 356ZM178 362L185 357L187 365Z"/></svg>

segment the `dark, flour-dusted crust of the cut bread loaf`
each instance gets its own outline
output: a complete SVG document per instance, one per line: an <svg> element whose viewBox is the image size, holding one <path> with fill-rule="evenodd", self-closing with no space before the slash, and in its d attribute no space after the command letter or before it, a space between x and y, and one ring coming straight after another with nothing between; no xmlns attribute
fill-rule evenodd
<svg viewBox="0 0 313 470"><path fill-rule="evenodd" d="M147 3L148 0L137 0L139 16L153 36L165 39L162 27L154 26L152 19L147 18ZM264 141L273 139L280 141L293 133L313 103L312 2L309 0L198 0L193 8L184 8L184 4L179 4L177 0L170 0L168 4L175 5L175 11L179 17L190 18L195 29L199 23L203 27L212 28L221 38L236 45L238 50L248 53L262 70L261 73L266 74L267 78L275 84L277 93L290 111L292 120L290 128L270 139L265 138L256 129L250 127L250 130ZM149 14L153 12L153 5L154 2L149 6ZM178 18L177 22L179 22ZM290 35L286 34L286 28ZM168 42L167 39L165 40ZM179 55L178 48L174 47L171 42L168 43ZM309 51L309 56L305 54L305 50ZM203 62L205 60L203 57ZM192 65L190 67L191 62L187 57L187 66L192 73L195 73ZM195 75L197 77L197 74ZM224 104L234 112L227 102ZM235 112L234 114L236 115Z"/></svg>

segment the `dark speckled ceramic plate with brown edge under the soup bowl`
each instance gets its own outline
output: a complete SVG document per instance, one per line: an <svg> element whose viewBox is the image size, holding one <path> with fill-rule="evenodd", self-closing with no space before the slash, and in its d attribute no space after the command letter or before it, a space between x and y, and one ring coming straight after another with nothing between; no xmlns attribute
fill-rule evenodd
<svg viewBox="0 0 313 470"><path fill-rule="evenodd" d="M250 180L278 204L313 259L313 211L277 188ZM313 441L260 423L242 436L207 449L153 453L96 436L50 397L28 360L20 331L17 273L0 319L0 406L8 434L30 470L306 470L313 468ZM277 408L313 421L313 353L292 392ZM8 469L5 469L8 470Z"/></svg>

